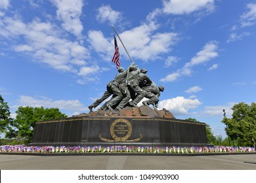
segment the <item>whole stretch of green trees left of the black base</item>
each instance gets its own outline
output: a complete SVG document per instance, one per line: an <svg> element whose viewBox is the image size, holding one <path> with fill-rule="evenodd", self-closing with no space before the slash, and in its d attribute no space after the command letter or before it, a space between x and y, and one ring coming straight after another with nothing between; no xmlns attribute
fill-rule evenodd
<svg viewBox="0 0 256 183"><path fill-rule="evenodd" d="M67 118L58 108L43 107L18 107L16 118L11 118L10 108L7 102L0 95L0 132L5 134L5 140L1 143L6 144L27 144L32 142L35 122L44 120L54 120ZM9 140L7 140L9 139Z"/></svg>

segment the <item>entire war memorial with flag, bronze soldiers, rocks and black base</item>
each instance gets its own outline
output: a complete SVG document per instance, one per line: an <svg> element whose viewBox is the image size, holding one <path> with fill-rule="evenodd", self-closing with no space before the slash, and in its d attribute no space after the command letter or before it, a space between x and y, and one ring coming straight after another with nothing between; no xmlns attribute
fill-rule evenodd
<svg viewBox="0 0 256 183"><path fill-rule="evenodd" d="M114 28L114 26L112 25ZM116 29L114 28L116 32ZM116 32L117 34L117 32ZM119 41L121 41L117 34ZM119 74L107 84L100 99L89 105L89 114L71 118L37 122L33 134L34 146L209 146L205 124L176 119L163 108L158 110L163 86L156 86L131 59L125 70L119 67L116 37L115 54ZM105 99L112 98L93 112ZM137 104L143 99L141 107ZM152 108L153 107L153 108Z"/></svg>

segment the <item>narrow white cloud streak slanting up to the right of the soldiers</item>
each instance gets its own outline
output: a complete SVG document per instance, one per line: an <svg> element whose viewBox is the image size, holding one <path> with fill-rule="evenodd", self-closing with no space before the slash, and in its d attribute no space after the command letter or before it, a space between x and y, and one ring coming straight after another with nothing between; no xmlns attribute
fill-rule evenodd
<svg viewBox="0 0 256 183"><path fill-rule="evenodd" d="M216 58L219 56L217 52L218 46L217 46L217 41L209 41L203 46L202 50L194 56L190 62L186 63L182 69L178 69L174 73L171 73L165 78L161 78L161 82L173 82L177 80L181 76L188 76L191 75L192 73L192 68L196 65L203 64L210 59Z"/></svg>

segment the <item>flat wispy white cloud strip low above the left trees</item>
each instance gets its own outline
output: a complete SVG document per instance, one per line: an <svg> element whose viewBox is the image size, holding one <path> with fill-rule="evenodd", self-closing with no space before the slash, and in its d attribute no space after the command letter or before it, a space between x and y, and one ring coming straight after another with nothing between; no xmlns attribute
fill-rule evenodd
<svg viewBox="0 0 256 183"><path fill-rule="evenodd" d="M18 99L18 106L30 106L30 107L45 107L45 108L60 108L60 110L68 110L71 112L81 112L87 110L82 103L78 100L58 100L53 101L53 99L49 99L47 97L31 97L27 95L20 96Z"/></svg>

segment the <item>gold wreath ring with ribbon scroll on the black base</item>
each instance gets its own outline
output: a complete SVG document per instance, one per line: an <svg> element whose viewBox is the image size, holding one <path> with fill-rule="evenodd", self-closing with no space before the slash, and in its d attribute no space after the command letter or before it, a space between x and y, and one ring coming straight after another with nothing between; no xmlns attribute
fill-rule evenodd
<svg viewBox="0 0 256 183"><path fill-rule="evenodd" d="M124 123L127 125L128 127L128 132L124 137L117 137L114 127L116 126L116 124L118 123ZM140 141L142 139L142 135L140 134L140 137L137 139L132 139L132 140L127 140L129 139L129 137L131 137L131 133L133 131L133 127L131 125L131 123L128 120L125 120L123 118L119 118L117 120L114 120L114 122L111 124L110 126L110 135L112 136L112 138L114 140L110 140L110 139L105 139L104 137L101 137L101 133L99 135L100 140L102 141L106 141L106 142L135 142L135 141Z"/></svg>

